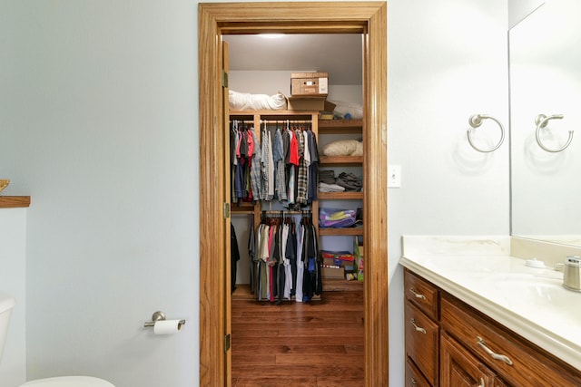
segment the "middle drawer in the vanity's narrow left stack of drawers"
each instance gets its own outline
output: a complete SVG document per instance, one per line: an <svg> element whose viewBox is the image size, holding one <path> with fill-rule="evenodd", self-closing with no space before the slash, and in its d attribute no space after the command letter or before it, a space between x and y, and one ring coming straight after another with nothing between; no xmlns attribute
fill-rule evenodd
<svg viewBox="0 0 581 387"><path fill-rule="evenodd" d="M438 384L438 324L419 308L406 302L406 353L428 382Z"/></svg>

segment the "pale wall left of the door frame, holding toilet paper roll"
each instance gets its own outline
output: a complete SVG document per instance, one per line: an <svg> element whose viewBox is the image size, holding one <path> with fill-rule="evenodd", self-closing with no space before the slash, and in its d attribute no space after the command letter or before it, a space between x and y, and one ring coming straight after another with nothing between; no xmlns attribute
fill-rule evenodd
<svg viewBox="0 0 581 387"><path fill-rule="evenodd" d="M0 5L0 166L33 198L30 379L198 382L196 23L179 0ZM156 310L182 332L143 329Z"/></svg>

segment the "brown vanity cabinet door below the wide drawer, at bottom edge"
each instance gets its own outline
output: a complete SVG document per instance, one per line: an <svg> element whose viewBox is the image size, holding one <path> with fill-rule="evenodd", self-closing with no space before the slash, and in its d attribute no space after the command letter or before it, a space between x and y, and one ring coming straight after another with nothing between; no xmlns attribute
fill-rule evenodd
<svg viewBox="0 0 581 387"><path fill-rule="evenodd" d="M440 385L494 387L495 375L448 334L440 336Z"/></svg>

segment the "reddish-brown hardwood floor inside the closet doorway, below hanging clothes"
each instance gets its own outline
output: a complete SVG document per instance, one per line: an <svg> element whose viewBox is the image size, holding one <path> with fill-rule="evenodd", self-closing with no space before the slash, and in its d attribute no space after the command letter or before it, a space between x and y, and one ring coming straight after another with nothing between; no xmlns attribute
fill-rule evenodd
<svg viewBox="0 0 581 387"><path fill-rule="evenodd" d="M364 385L363 284L326 282L319 300L281 305L238 289L231 304L232 386Z"/></svg>

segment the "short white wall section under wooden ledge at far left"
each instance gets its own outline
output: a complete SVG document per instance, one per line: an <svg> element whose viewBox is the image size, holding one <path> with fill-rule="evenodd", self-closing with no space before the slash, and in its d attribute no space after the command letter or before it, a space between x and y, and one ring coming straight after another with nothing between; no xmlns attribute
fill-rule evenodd
<svg viewBox="0 0 581 387"><path fill-rule="evenodd" d="M15 297L4 353L0 356L0 386L25 381L26 209L0 208L0 291ZM2 348L0 347L0 351Z"/></svg>

